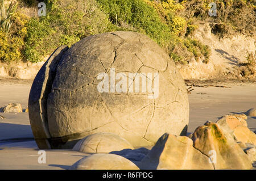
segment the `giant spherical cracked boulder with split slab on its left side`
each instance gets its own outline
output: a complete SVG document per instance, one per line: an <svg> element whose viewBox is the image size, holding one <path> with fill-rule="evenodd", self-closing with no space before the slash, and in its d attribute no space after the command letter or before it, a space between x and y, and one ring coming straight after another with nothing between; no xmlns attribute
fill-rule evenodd
<svg viewBox="0 0 256 181"><path fill-rule="evenodd" d="M126 74L127 91L97 90L102 81L97 75L106 73L110 79L110 69ZM140 87L143 75L154 82L158 73L159 95L150 99L154 91L132 91L136 80L129 73L142 75ZM55 50L36 75L29 110L36 142L48 149L73 148L98 132L115 133L134 147L154 145L165 132L186 134L189 115L185 83L168 54L149 37L122 31Z"/></svg>

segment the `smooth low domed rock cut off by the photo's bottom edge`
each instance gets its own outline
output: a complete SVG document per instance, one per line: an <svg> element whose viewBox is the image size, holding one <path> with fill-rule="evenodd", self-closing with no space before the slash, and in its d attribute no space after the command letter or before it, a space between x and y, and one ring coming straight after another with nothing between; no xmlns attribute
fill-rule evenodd
<svg viewBox="0 0 256 181"><path fill-rule="evenodd" d="M129 159L115 154L97 153L80 159L71 170L139 170Z"/></svg>

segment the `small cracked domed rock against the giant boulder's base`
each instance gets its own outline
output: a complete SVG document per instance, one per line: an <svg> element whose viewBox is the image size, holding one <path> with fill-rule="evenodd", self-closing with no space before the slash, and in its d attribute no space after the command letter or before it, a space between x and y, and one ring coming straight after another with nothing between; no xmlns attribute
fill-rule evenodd
<svg viewBox="0 0 256 181"><path fill-rule="evenodd" d="M101 132L86 136L74 146L74 151L84 153L109 153L123 149L134 149L131 144L117 134Z"/></svg>

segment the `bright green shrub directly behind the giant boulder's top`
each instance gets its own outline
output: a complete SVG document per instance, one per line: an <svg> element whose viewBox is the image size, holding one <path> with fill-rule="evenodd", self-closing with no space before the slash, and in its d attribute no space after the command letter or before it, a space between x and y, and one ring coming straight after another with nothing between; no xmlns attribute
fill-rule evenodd
<svg viewBox="0 0 256 181"><path fill-rule="evenodd" d="M150 36L159 44L170 39L170 28L163 23L154 7L142 0L96 0L101 10L117 26L131 24L137 31Z"/></svg>

